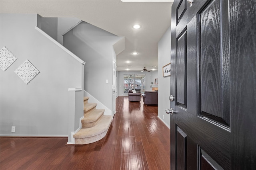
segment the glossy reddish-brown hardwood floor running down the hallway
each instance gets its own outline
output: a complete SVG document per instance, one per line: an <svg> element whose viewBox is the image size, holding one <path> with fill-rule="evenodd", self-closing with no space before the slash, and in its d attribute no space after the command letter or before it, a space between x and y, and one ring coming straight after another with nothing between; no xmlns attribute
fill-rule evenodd
<svg viewBox="0 0 256 170"><path fill-rule="evenodd" d="M116 115L102 140L66 145L67 137L1 137L1 170L170 170L170 129L157 106L116 100Z"/></svg>

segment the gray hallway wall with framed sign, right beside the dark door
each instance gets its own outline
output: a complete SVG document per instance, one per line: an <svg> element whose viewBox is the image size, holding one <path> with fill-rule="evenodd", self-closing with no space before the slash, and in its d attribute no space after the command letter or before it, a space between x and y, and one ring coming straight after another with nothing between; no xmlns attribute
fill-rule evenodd
<svg viewBox="0 0 256 170"><path fill-rule="evenodd" d="M158 42L158 117L170 128L170 114L165 109L170 109L170 76L163 77L162 67L170 63L171 56L171 27L169 27ZM164 117L163 117L164 116Z"/></svg>

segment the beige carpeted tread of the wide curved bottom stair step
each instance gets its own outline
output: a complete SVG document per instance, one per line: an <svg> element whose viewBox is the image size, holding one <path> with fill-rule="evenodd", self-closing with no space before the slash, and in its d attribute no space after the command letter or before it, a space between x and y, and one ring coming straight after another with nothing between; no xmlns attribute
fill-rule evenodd
<svg viewBox="0 0 256 170"><path fill-rule="evenodd" d="M104 115L100 118L100 120L94 127L80 129L76 134L73 135L73 137L74 138L95 137L107 131L111 122L112 122L112 115Z"/></svg>

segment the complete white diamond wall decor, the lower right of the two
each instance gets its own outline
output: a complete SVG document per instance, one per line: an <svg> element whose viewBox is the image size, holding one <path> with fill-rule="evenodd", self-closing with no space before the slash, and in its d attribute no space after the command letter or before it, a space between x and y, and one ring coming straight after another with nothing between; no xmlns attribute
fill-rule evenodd
<svg viewBox="0 0 256 170"><path fill-rule="evenodd" d="M14 71L26 84L28 84L40 71L30 61L26 60Z"/></svg>

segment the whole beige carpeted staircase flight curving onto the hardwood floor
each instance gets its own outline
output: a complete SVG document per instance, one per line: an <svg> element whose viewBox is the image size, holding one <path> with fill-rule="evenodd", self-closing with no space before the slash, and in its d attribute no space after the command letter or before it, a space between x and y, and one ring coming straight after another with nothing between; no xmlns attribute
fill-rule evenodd
<svg viewBox="0 0 256 170"><path fill-rule="evenodd" d="M89 97L84 97L84 118L82 129L73 135L75 145L94 143L106 136L112 115L104 115L105 109L96 109L96 103L88 103Z"/></svg>

